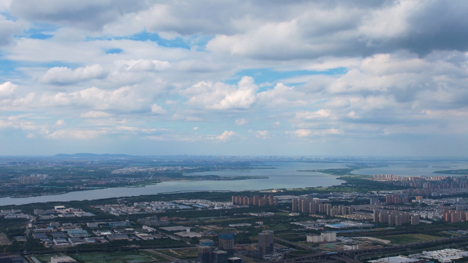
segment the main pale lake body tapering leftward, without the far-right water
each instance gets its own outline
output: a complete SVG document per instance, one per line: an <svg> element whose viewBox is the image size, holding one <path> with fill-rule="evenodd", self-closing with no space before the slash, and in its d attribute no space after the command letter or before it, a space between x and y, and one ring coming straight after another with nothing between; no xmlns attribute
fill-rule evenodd
<svg viewBox="0 0 468 263"><path fill-rule="evenodd" d="M337 176L328 174L304 172L306 169L345 168L346 164L338 163L263 163L257 168L274 167L275 169L251 169L231 171L210 171L189 175L218 175L218 176L269 176L268 179L229 180L229 181L187 181L162 182L144 187L118 187L90 191L77 191L62 195L42 195L25 198L0 198L0 206L10 204L31 204L38 202L66 202L73 200L92 200L111 197L125 197L135 195L154 195L156 193L170 193L179 191L244 191L264 189L293 189L313 186L333 186L341 184Z"/></svg>

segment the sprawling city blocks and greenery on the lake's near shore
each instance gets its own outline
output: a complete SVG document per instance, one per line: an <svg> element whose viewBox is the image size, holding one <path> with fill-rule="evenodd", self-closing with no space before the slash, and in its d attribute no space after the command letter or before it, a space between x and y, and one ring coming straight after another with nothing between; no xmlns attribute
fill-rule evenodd
<svg viewBox="0 0 468 263"><path fill-rule="evenodd" d="M0 262L468 262L468 176L341 178L328 189L3 206Z"/></svg>

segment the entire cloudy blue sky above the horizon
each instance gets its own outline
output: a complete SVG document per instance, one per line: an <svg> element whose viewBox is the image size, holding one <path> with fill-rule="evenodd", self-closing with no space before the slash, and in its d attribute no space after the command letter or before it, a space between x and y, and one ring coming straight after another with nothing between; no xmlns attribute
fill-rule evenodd
<svg viewBox="0 0 468 263"><path fill-rule="evenodd" d="M0 0L0 155L468 156L466 10Z"/></svg>

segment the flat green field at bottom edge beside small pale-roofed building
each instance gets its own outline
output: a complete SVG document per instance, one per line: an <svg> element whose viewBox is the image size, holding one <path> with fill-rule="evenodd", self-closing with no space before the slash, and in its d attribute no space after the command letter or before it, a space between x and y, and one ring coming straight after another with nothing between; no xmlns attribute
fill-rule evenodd
<svg viewBox="0 0 468 263"><path fill-rule="evenodd" d="M79 253L79 255L71 255L72 258L90 262L90 263L129 263L129 262L155 262L153 259L140 255L138 252L114 252L114 253Z"/></svg>

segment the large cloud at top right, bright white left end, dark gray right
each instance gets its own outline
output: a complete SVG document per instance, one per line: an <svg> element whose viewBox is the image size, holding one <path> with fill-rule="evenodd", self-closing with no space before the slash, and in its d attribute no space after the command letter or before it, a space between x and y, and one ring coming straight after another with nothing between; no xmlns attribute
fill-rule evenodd
<svg viewBox="0 0 468 263"><path fill-rule="evenodd" d="M300 12L285 12L275 25L224 33L209 49L255 59L369 56L408 50L466 51L468 18L465 1L386 1L346 5L334 1L298 4ZM261 15L260 19L263 18ZM276 30L275 30L276 29ZM280 41L284 40L284 41Z"/></svg>

